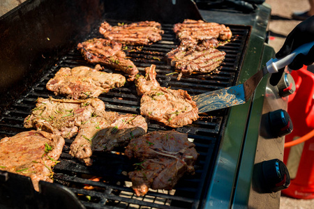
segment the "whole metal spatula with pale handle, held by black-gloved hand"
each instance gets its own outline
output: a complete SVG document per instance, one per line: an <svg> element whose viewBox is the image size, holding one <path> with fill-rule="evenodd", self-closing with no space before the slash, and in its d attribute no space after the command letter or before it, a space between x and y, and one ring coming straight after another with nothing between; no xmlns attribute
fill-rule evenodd
<svg viewBox="0 0 314 209"><path fill-rule="evenodd" d="M314 41L308 42L295 49L283 59L270 59L262 70L256 72L255 75L247 79L244 84L192 96L192 99L197 104L199 113L246 103L251 98L251 95L255 91L257 85L260 84L264 75L267 73L278 72L278 69L289 65L297 54L308 54L308 51L313 45Z"/></svg>

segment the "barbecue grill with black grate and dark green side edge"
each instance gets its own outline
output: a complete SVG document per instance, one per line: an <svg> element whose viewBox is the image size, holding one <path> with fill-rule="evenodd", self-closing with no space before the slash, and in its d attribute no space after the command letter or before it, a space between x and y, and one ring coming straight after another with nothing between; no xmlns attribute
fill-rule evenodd
<svg viewBox="0 0 314 209"><path fill-rule="evenodd" d="M0 137L27 130L23 121L38 97L62 98L45 88L60 68L79 65L94 68L84 61L76 45L89 38L101 38L98 27L104 20L112 25L144 20L160 22L165 31L163 39L144 47L128 47L127 56L142 75L144 68L156 65L160 86L181 88L190 95L197 95L244 82L274 55L274 50L265 43L269 15L267 5L259 6L255 13L243 14L230 13L230 9L198 10L196 4L188 0L25 1L0 18ZM218 47L226 52L220 72L193 74L177 81L177 75L172 73L173 68L167 65L164 56L179 44L172 31L173 24L186 18L226 24L232 30L233 40ZM111 68L105 71L116 72ZM132 82L98 98L105 102L107 111L140 114L140 97ZM257 141L267 138L259 134L260 129L267 129L263 121L265 114L286 109L286 105L285 99L278 96L278 89L269 86L268 79L264 78L250 102L202 114L193 124L177 128L179 132L188 133L200 156L195 175L184 176L171 191L150 190L138 197L130 188L126 174L135 169L134 162L121 155L123 148L116 148L112 153L94 153L94 164L87 167L68 154L73 139L67 139L61 162L53 170L54 183L40 182L40 192L33 190L29 178L0 171L0 206L229 208L250 206L261 198L271 199L269 203L279 207L280 192L272 196L256 192L253 171L254 164L262 160L283 158L283 137L268 137L276 139L268 140L278 147L269 156L265 153L270 151L260 147ZM149 132L154 130L172 128L150 121ZM261 157L258 152L265 153ZM94 177L98 177L98 181L93 180Z"/></svg>

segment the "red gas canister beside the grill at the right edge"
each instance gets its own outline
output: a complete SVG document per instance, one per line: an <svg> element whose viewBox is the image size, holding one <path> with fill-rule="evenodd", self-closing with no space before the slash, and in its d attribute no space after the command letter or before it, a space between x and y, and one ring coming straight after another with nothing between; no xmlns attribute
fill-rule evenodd
<svg viewBox="0 0 314 209"><path fill-rule="evenodd" d="M314 128L314 74L307 67L291 73L296 91L289 96L287 112L294 130L285 142L303 137ZM290 186L282 192L297 199L314 199L314 137L285 148L283 162L290 173Z"/></svg>

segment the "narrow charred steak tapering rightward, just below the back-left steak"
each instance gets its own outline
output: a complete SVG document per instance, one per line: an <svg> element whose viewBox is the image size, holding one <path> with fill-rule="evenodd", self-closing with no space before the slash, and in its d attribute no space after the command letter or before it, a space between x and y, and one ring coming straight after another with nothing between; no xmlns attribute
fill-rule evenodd
<svg viewBox="0 0 314 209"><path fill-rule="evenodd" d="M94 38L77 45L77 49L89 63L100 63L121 70L129 75L129 81L133 81L138 70L132 61L126 59L126 53L121 47L120 42L103 38Z"/></svg>

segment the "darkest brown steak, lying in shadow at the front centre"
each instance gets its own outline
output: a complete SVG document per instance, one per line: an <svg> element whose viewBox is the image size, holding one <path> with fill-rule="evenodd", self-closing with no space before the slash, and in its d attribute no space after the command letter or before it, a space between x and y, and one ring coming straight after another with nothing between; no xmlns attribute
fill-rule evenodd
<svg viewBox="0 0 314 209"><path fill-rule="evenodd" d="M172 189L184 173L194 174L198 153L188 134L172 131L149 132L130 141L125 154L135 157L137 170L128 173L133 190L142 196L148 189Z"/></svg>

